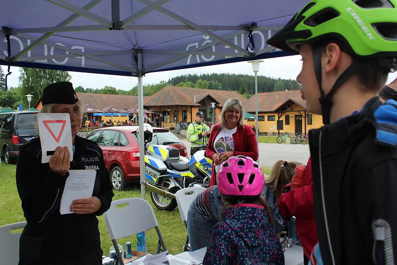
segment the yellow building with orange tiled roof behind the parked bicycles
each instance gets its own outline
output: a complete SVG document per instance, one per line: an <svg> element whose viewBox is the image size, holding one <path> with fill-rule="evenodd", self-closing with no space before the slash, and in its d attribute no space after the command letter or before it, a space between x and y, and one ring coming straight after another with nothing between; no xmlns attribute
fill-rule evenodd
<svg viewBox="0 0 397 265"><path fill-rule="evenodd" d="M246 104L245 111L255 116L255 96ZM258 125L261 134L307 134L323 126L323 117L309 113L306 101L297 90L258 94ZM246 120L256 126L255 119Z"/></svg>

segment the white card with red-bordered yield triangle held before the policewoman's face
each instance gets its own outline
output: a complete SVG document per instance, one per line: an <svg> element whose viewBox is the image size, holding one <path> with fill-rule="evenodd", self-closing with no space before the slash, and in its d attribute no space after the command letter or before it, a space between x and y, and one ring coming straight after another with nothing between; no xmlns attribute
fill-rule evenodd
<svg viewBox="0 0 397 265"><path fill-rule="evenodd" d="M41 142L41 162L49 163L57 146L67 146L71 161L73 159L73 147L69 114L39 113L37 114L37 123Z"/></svg>

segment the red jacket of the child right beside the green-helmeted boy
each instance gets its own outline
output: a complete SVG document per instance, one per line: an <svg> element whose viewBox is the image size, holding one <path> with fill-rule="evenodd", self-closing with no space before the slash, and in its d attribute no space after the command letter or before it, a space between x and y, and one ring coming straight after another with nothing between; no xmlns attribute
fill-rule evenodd
<svg viewBox="0 0 397 265"><path fill-rule="evenodd" d="M305 186L292 189L278 199L278 209L284 218L296 217L296 232L307 258L317 244L316 219L313 205L312 159L309 158L305 170Z"/></svg>

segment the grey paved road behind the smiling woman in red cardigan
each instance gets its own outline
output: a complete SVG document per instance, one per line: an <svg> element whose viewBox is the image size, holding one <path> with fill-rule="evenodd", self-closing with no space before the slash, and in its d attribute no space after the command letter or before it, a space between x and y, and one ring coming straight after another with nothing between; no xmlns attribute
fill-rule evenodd
<svg viewBox="0 0 397 265"><path fill-rule="evenodd" d="M181 141L190 153L190 142L187 139ZM271 167L277 160L295 160L306 164L309 155L309 144L259 143L259 162L267 167Z"/></svg>

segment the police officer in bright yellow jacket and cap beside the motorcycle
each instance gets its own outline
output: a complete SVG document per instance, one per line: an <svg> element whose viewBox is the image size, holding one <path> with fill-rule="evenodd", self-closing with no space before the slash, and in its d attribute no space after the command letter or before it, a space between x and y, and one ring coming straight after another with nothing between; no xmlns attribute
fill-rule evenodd
<svg viewBox="0 0 397 265"><path fill-rule="evenodd" d="M198 111L196 113L196 121L188 127L188 141L191 142L190 155L193 155L199 148L205 148L209 138L209 127L204 124L204 113Z"/></svg>

